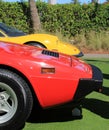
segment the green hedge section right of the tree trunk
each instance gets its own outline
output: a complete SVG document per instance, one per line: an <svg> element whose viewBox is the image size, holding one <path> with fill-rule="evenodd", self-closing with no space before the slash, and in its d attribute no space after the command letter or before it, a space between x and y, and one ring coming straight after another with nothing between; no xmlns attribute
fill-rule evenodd
<svg viewBox="0 0 109 130"><path fill-rule="evenodd" d="M44 29L74 36L90 30L109 30L109 5L37 4Z"/></svg>

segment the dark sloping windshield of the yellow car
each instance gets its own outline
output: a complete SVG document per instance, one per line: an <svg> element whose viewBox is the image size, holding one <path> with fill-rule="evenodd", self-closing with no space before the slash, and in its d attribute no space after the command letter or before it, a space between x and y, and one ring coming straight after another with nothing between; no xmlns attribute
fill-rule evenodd
<svg viewBox="0 0 109 130"><path fill-rule="evenodd" d="M8 36L22 36L25 35L23 31L17 30L14 27L7 26L4 23L0 23L0 29Z"/></svg>

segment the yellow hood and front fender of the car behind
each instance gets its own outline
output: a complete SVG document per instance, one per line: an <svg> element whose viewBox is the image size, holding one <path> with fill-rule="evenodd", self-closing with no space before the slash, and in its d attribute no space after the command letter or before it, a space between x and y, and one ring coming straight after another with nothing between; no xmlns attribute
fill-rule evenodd
<svg viewBox="0 0 109 130"><path fill-rule="evenodd" d="M49 34L28 34L17 37L0 37L0 41L6 41L17 44L28 44L37 42L43 44L48 50L54 50L68 55L79 55L80 50L70 44L60 41L57 36Z"/></svg>

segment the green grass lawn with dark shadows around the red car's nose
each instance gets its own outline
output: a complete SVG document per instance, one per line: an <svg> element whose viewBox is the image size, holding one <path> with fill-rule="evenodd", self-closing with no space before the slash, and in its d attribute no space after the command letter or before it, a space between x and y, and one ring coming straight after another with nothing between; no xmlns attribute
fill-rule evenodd
<svg viewBox="0 0 109 130"><path fill-rule="evenodd" d="M82 119L73 119L71 106L45 110L23 130L109 130L109 59L84 59L103 73L103 92L89 94L82 103Z"/></svg>

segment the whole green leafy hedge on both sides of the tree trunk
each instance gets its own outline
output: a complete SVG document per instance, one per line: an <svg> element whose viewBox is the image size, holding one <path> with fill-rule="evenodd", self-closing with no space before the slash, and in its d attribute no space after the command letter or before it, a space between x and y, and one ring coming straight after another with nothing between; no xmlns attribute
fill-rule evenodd
<svg viewBox="0 0 109 130"><path fill-rule="evenodd" d="M57 4L36 3L42 27L48 32L61 32L74 36L90 30L109 30L109 4ZM0 21L31 32L28 3L0 2Z"/></svg>

